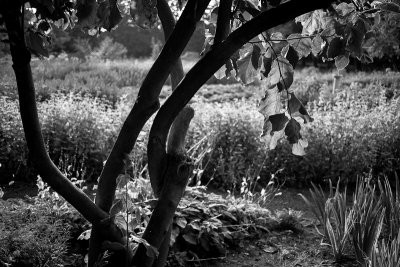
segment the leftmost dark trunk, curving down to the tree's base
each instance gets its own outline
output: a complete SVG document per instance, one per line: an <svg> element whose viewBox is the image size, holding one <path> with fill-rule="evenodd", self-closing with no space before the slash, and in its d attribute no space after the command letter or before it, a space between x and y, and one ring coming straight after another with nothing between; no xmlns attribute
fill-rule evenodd
<svg viewBox="0 0 400 267"><path fill-rule="evenodd" d="M117 226L108 220L108 214L97 207L84 192L73 185L51 161L43 141L35 99L35 87L30 66L31 53L24 41L21 7L2 12L5 20L13 68L16 76L20 114L29 153L43 180L69 202L99 232L112 242L122 243L124 237ZM130 253L132 254L132 253Z"/></svg>

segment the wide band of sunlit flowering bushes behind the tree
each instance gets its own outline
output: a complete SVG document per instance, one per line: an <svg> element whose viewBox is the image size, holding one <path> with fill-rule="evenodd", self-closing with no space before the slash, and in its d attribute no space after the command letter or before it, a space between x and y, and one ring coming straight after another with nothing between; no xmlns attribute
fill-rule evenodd
<svg viewBox="0 0 400 267"><path fill-rule="evenodd" d="M69 176L97 178L132 106L138 77L144 77L150 63L59 59L33 63L45 141L53 160ZM32 173L26 163L29 156L10 71L2 68L5 75L0 81L0 173L4 180ZM278 177L287 184L301 186L338 177L354 182L356 175L365 172L392 175L399 170L399 78L390 72L345 74L343 86L334 94L331 79L331 73L313 69L296 77L294 88L315 119L302 126L309 141L305 157L293 156L285 141L276 150L266 151L259 138L263 118L254 101L262 95L262 84L205 85L194 99L196 116L188 135L196 178L213 178L218 186L231 188L244 177L259 175L259 182L265 184L279 171ZM166 87L161 98L169 91ZM148 128L140 135L135 153L143 164Z"/></svg>

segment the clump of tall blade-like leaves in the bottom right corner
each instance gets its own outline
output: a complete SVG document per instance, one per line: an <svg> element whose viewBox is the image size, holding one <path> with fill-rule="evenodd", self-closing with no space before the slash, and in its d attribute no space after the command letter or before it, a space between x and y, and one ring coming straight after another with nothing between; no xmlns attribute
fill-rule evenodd
<svg viewBox="0 0 400 267"><path fill-rule="evenodd" d="M379 181L378 185L379 193L371 177L358 179L351 202L347 200L346 187L339 192L339 185L334 197L325 201L323 197L314 197L323 194L316 187L311 190L313 200L302 196L319 220L326 218L324 238L337 261L354 254L362 267L399 266L400 221L392 219L398 215L395 213L400 208L400 202L387 178ZM321 214L322 206L325 210ZM386 232L383 229L387 229Z"/></svg>

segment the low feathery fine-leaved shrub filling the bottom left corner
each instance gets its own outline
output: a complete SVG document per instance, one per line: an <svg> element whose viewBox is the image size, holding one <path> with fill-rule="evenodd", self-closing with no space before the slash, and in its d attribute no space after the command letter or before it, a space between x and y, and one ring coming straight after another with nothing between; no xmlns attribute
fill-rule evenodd
<svg viewBox="0 0 400 267"><path fill-rule="evenodd" d="M5 266L80 266L68 251L71 226L43 205L0 200L0 263Z"/></svg>

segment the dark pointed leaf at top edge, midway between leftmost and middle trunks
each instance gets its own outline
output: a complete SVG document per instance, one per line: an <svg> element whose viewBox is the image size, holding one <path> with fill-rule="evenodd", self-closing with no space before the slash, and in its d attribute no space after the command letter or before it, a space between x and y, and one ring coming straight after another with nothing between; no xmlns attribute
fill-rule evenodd
<svg viewBox="0 0 400 267"><path fill-rule="evenodd" d="M97 17L100 19L101 26L107 31L111 31L122 20L117 1L103 0L99 2Z"/></svg>

